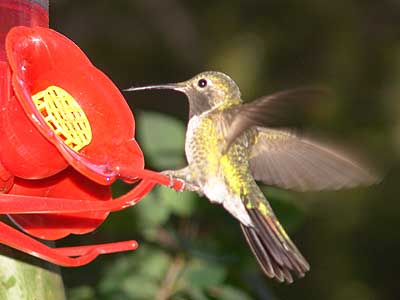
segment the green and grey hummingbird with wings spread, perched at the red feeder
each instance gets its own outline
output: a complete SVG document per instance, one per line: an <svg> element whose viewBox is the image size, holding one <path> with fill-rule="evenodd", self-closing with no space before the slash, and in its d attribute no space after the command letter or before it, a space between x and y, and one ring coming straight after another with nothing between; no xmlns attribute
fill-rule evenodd
<svg viewBox="0 0 400 300"><path fill-rule="evenodd" d="M288 90L244 103L229 76L209 71L180 83L126 91L152 89L179 91L189 100L188 166L165 173L231 213L270 278L291 283L292 273L303 277L310 266L277 220L256 180L299 191L377 181L374 174L346 155L274 127L282 104L313 96L319 90Z"/></svg>

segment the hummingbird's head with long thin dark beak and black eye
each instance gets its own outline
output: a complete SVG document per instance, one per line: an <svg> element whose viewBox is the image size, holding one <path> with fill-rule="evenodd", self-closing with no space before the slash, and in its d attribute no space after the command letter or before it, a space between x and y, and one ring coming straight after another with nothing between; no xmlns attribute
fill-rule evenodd
<svg viewBox="0 0 400 300"><path fill-rule="evenodd" d="M226 108L241 103L240 90L228 75L207 71L193 78L163 85L129 88L126 91L172 89L180 91L189 99L190 117L215 108Z"/></svg>

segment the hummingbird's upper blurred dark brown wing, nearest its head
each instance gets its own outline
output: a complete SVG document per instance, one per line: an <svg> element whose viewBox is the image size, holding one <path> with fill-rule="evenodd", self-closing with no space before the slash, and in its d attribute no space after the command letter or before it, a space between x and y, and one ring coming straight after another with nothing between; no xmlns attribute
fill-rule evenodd
<svg viewBox="0 0 400 300"><path fill-rule="evenodd" d="M232 143L247 129L254 126L291 127L295 124L294 114L306 101L315 100L328 91L322 88L297 88L274 93L227 109L225 115L230 122L227 135L226 151Z"/></svg>

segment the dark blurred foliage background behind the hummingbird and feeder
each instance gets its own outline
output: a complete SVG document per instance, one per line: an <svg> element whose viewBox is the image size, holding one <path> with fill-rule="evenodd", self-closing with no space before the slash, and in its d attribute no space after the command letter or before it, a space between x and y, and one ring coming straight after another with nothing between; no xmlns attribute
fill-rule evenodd
<svg viewBox="0 0 400 300"><path fill-rule="evenodd" d="M266 190L311 263L293 285L262 276L221 208L157 189L98 232L63 242L141 242L135 253L63 269L69 299L399 299L399 1L57 0L50 19L120 88L209 69L231 75L245 99L330 87L334 96L311 106L304 124L358 145L386 170L370 188ZM159 91L126 99L148 166L184 165L184 96ZM126 188L118 184L115 192Z"/></svg>

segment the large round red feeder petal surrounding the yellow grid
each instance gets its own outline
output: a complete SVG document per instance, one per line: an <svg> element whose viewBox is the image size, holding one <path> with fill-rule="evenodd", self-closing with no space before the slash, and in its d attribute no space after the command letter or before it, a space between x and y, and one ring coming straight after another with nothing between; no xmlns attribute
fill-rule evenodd
<svg viewBox="0 0 400 300"><path fill-rule="evenodd" d="M70 165L90 179L107 185L117 177L133 181L139 176L144 159L134 139L135 123L130 108L111 80L90 63L79 47L53 30L20 26L8 33L6 51L13 71L13 87L26 115ZM39 111L32 100L32 96L46 93L53 86L61 89L49 94L70 96L69 100L63 98L55 106L69 101L66 106L73 107L70 115L62 115L61 120L68 122L76 114L80 114L79 117L84 114L82 119L86 118L89 124L77 125L91 130L90 138L87 138L89 134L84 136L88 143L80 149L66 143L69 133L60 133L53 123L49 124L45 120L48 111ZM56 117L57 114L59 111L55 112ZM72 123L68 124L67 127ZM51 149L49 145L40 147L46 151ZM45 162L47 156L42 158ZM52 171L56 173L64 167L54 165Z"/></svg>

